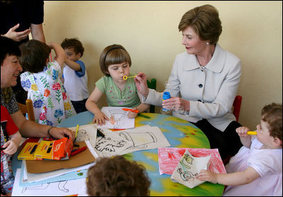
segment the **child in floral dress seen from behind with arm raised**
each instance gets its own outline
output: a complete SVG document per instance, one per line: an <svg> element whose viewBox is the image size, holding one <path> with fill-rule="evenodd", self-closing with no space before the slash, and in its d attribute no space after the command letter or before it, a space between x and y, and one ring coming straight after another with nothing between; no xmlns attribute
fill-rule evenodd
<svg viewBox="0 0 283 197"><path fill-rule="evenodd" d="M21 85L33 101L35 122L57 126L62 120L76 114L60 80L59 74L65 62L65 51L57 43L46 45L38 40L29 40L20 45L21 65L27 70L21 74ZM51 49L55 61L48 62Z"/></svg>

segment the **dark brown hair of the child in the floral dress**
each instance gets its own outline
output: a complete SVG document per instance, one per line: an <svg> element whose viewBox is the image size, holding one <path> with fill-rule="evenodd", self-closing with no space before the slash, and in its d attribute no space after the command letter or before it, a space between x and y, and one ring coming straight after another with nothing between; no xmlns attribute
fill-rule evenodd
<svg viewBox="0 0 283 197"><path fill-rule="evenodd" d="M22 55L19 60L22 67L28 72L42 72L46 66L51 48L38 40L29 40L21 44L20 49Z"/></svg>

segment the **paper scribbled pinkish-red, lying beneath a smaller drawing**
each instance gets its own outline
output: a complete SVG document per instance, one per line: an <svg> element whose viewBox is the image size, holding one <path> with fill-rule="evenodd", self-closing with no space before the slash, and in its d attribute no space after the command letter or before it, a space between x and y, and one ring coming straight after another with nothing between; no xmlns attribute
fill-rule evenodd
<svg viewBox="0 0 283 197"><path fill-rule="evenodd" d="M177 167L177 164L179 163L180 159L182 158L186 150L189 150L189 152L194 157L211 156L211 158L209 159L208 169L218 174L226 174L226 169L221 160L218 149L179 148L179 147L158 148L158 164L159 164L160 174L172 175L174 169Z"/></svg>

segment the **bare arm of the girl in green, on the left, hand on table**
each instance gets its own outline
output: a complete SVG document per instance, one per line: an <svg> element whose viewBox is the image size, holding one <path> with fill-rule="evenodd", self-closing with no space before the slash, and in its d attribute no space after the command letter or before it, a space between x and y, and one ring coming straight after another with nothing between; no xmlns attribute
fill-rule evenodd
<svg viewBox="0 0 283 197"><path fill-rule="evenodd" d="M97 87L95 87L94 91L91 92L91 95L86 102L86 108L89 112L94 114L93 122L97 125L105 125L105 120L109 120L109 118L100 111L96 104L101 98L102 94L103 93Z"/></svg>

